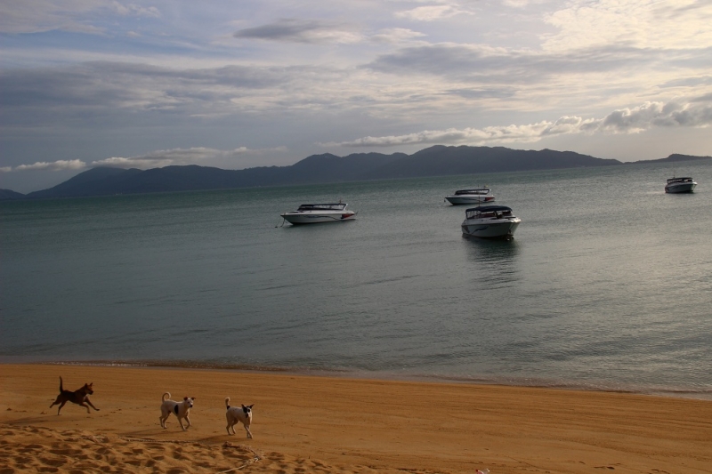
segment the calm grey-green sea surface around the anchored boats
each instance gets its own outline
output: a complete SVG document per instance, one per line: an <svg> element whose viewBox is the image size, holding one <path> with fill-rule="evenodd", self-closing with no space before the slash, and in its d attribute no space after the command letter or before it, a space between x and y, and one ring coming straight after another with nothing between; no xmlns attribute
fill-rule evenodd
<svg viewBox="0 0 712 474"><path fill-rule="evenodd" d="M666 195L673 173L693 194ZM489 185L522 219L463 237ZM355 221L283 225L343 199ZM712 164L0 203L0 362L712 399Z"/></svg>

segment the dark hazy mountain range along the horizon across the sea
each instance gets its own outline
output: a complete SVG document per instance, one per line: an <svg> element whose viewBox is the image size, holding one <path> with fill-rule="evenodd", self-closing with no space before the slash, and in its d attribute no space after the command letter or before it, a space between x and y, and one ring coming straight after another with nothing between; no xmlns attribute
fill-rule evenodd
<svg viewBox="0 0 712 474"><path fill-rule="evenodd" d="M712 159L670 155L652 161ZM0 199L84 197L114 194L190 191L201 189L254 188L344 181L389 180L454 174L624 165L613 159L551 149L519 150L504 147L445 147L436 145L412 155L405 153L354 153L336 157L312 155L289 166L261 166L246 170L223 170L208 166L166 166L142 171L99 167L61 184L27 195L0 190ZM626 164L628 165L628 164Z"/></svg>

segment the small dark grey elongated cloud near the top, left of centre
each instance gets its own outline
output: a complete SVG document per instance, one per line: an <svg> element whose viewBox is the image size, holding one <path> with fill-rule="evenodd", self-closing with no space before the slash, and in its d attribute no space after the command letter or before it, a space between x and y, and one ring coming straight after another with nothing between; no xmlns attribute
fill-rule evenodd
<svg viewBox="0 0 712 474"><path fill-rule="evenodd" d="M255 28L236 31L236 38L263 39L289 43L357 43L360 34L344 23L325 20L282 19Z"/></svg>

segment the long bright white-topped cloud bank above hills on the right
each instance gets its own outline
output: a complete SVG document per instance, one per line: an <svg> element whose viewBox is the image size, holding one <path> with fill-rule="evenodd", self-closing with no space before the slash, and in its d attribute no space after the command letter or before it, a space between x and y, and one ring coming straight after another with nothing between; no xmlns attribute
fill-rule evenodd
<svg viewBox="0 0 712 474"><path fill-rule="evenodd" d="M405 135L364 137L354 141L320 143L341 147L397 147L414 144L470 144L533 142L575 133L639 133L653 127L706 127L712 125L712 102L681 104L675 101L645 102L635 108L614 110L600 119L562 116L554 122L529 125L489 126L425 130Z"/></svg>

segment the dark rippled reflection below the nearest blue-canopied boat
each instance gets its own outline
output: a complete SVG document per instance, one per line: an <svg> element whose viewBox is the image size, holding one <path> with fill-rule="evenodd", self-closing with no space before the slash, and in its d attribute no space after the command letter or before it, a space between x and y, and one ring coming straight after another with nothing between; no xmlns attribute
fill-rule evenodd
<svg viewBox="0 0 712 474"><path fill-rule="evenodd" d="M511 286L522 279L515 240L462 237L473 282L487 288Z"/></svg>

